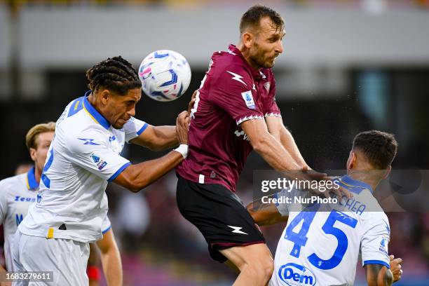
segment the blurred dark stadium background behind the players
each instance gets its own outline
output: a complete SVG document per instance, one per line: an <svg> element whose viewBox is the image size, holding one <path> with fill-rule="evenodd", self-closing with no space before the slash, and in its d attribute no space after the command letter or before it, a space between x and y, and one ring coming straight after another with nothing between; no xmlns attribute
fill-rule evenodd
<svg viewBox="0 0 429 286"><path fill-rule="evenodd" d="M238 41L238 22L254 1L0 0L0 178L29 163L25 133L56 121L87 90L85 71L122 55L137 68L151 51L182 53L193 71L175 102L143 96L137 118L173 124L198 88L212 52ZM361 130L393 132L393 168L428 169L429 1L265 0L285 18L285 53L274 72L277 102L304 158L319 170L345 168ZM156 158L130 146L134 162ZM238 195L252 200L247 162ZM203 237L180 216L171 173L132 194L111 185L109 217L123 255L125 285L231 285L234 274L211 261ZM390 252L404 259L397 285L429 285L429 214L389 214ZM263 229L275 251L283 226ZM358 269L361 267L358 266ZM357 273L362 285L364 273Z"/></svg>

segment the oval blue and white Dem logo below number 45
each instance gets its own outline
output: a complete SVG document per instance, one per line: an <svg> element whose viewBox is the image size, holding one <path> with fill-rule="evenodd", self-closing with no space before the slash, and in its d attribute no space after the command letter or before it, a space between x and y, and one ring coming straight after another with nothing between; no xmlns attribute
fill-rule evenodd
<svg viewBox="0 0 429 286"><path fill-rule="evenodd" d="M305 266L288 263L280 266L277 273L280 280L290 286L315 285L316 278L313 272Z"/></svg>

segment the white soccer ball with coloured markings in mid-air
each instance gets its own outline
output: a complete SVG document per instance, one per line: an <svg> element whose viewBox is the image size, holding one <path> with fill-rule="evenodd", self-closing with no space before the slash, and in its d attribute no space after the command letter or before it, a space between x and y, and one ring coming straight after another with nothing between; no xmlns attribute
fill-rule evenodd
<svg viewBox="0 0 429 286"><path fill-rule="evenodd" d="M156 50L144 58L139 67L142 90L161 102L177 100L191 82L191 67L183 55L174 50Z"/></svg>

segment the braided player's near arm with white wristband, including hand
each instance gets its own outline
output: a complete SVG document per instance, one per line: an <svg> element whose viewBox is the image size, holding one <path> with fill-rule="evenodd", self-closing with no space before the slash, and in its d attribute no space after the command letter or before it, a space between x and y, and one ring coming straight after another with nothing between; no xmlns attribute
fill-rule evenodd
<svg viewBox="0 0 429 286"><path fill-rule="evenodd" d="M176 120L176 134L180 144L179 148L161 158L129 165L113 182L136 193L145 186L149 186L149 184L155 182L167 172L170 172L170 170L186 158L188 153L188 126L189 116L184 111L177 116Z"/></svg>

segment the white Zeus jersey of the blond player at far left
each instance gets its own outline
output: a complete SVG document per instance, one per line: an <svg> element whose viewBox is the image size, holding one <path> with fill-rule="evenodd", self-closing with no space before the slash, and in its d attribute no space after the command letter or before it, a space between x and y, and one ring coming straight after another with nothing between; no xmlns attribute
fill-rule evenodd
<svg viewBox="0 0 429 286"><path fill-rule="evenodd" d="M6 269L13 271L12 245L18 225L27 215L28 208L36 201L39 184L34 177L34 168L26 174L9 177L0 181L0 224L4 229L4 257ZM102 233L111 228L106 216L102 223Z"/></svg>

